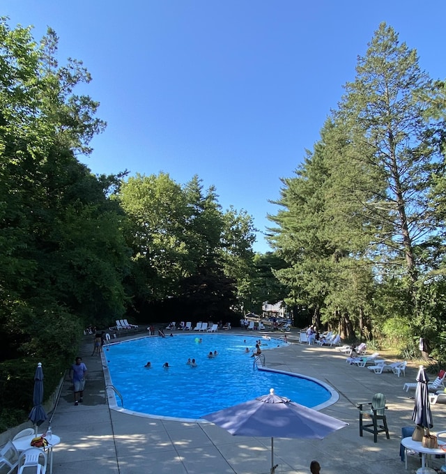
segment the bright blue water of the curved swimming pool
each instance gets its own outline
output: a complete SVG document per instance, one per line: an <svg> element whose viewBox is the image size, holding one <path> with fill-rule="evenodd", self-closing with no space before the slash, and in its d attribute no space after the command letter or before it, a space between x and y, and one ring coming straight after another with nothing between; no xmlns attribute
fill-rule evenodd
<svg viewBox="0 0 446 474"><path fill-rule="evenodd" d="M310 408L330 399L331 392L320 383L254 368L251 354L257 339L194 332L110 344L104 353L111 382L121 392L124 408L140 413L198 419L266 395L270 388ZM268 351L287 345L274 338L261 342L266 365ZM246 347L250 353L245 353ZM208 358L210 351L217 351L217 357ZM194 358L197 367L187 365L188 358ZM144 367L148 361L151 369ZM162 367L164 362L169 362L169 369Z"/></svg>

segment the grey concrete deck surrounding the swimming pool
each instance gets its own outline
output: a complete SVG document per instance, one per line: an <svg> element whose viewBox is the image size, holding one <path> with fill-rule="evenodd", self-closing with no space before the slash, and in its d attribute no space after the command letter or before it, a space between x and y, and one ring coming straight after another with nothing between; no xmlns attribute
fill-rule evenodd
<svg viewBox="0 0 446 474"><path fill-rule="evenodd" d="M229 333L247 334L240 329ZM264 331L253 334L283 336ZM129 338L134 336L140 334ZM346 356L334 348L298 344L294 331L287 337L290 346L266 352L266 366L312 376L331 385L339 392L339 401L322 411L350 425L321 441L275 438L275 463L279 464L275 472L307 474L310 461L317 459L323 474L415 473L420 467L419 457L408 456L406 471L399 445L401 427L413 426L414 401L410 397L415 391L407 393L403 383L415 381L416 369L408 367L406 378L392 373L378 375L346 364ZM54 448L54 474L270 473L270 438L231 436L208 423L142 418L111 410L102 360L98 355L91 356L92 347L91 336L85 337L80 353L89 369L84 403L74 406L71 383L66 379L54 411L53 432L61 437L60 445ZM266 393L269 388L265 388ZM369 402L376 392L387 397L390 429L390 440L381 433L378 443L374 443L373 434L364 432L362 438L359 436L356 408L357 403ZM433 433L446 429L445 406L438 403L431 407ZM445 459L431 461L433 467L443 464Z"/></svg>

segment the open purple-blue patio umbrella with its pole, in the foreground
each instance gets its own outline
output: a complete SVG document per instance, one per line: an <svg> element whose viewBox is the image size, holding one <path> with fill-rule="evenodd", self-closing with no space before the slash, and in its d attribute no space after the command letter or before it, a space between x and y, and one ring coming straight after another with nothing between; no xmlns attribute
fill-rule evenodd
<svg viewBox="0 0 446 474"><path fill-rule="evenodd" d="M286 397L263 395L249 402L204 415L234 436L266 436L271 438L271 474L274 465L274 438L322 439L348 423L291 402Z"/></svg>

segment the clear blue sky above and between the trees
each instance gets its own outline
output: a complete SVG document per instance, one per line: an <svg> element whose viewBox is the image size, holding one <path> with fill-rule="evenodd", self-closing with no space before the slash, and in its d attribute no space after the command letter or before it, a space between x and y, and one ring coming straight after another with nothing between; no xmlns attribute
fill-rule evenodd
<svg viewBox="0 0 446 474"><path fill-rule="evenodd" d="M2 0L0 14L38 39L51 26L60 63L91 72L82 92L108 123L81 158L94 173L197 174L260 231L380 22L446 77L445 0Z"/></svg>

